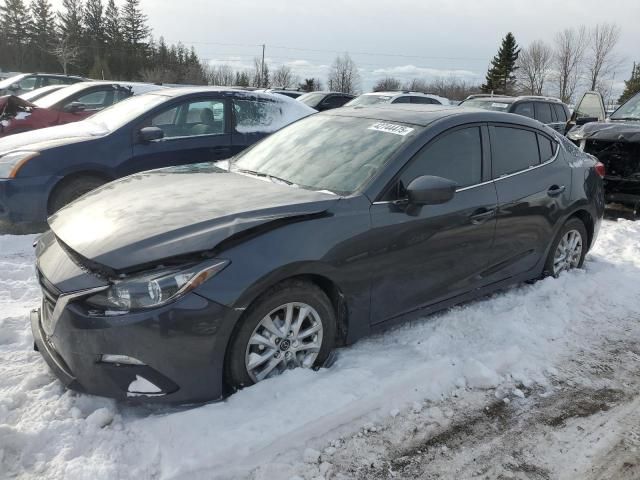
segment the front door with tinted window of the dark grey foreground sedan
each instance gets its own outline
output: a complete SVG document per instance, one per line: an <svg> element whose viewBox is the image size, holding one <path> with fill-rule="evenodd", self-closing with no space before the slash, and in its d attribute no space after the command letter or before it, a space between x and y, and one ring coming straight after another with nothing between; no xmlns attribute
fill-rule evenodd
<svg viewBox="0 0 640 480"><path fill-rule="evenodd" d="M496 227L488 134L480 125L447 131L418 152L371 206L371 322L381 323L485 284ZM402 204L405 187L433 175L458 183L452 200Z"/></svg>

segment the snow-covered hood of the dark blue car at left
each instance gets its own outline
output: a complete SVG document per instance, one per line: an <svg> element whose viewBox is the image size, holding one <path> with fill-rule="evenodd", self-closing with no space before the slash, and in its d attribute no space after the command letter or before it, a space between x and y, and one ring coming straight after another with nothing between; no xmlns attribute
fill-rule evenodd
<svg viewBox="0 0 640 480"><path fill-rule="evenodd" d="M0 138L0 156L13 150L42 151L69 143L92 140L107 133L109 133L107 130L90 120L17 133Z"/></svg>

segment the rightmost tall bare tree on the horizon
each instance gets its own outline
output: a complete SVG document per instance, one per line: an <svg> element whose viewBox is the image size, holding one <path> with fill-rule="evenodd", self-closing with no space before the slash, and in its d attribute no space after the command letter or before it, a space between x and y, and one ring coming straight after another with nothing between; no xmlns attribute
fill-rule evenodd
<svg viewBox="0 0 640 480"><path fill-rule="evenodd" d="M614 49L620 40L620 27L615 23L601 23L589 30L586 71L591 90L599 89L604 77L618 66ZM606 86L605 86L606 88Z"/></svg>

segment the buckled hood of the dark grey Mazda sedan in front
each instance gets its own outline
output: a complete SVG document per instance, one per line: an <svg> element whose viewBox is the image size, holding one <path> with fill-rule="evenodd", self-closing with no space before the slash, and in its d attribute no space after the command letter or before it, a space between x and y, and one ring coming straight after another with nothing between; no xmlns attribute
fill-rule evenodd
<svg viewBox="0 0 640 480"><path fill-rule="evenodd" d="M49 225L82 257L126 270L211 250L274 220L322 213L339 198L199 164L109 183L60 210Z"/></svg>

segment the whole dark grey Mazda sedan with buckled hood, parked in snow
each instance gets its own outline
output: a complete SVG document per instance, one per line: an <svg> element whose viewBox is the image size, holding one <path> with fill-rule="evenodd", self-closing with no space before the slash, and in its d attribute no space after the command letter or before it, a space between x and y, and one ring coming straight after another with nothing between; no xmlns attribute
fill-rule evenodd
<svg viewBox="0 0 640 480"><path fill-rule="evenodd" d="M51 217L35 343L84 393L219 399L400 321L581 267L603 215L601 166L516 115L312 115L231 171L133 175Z"/></svg>

